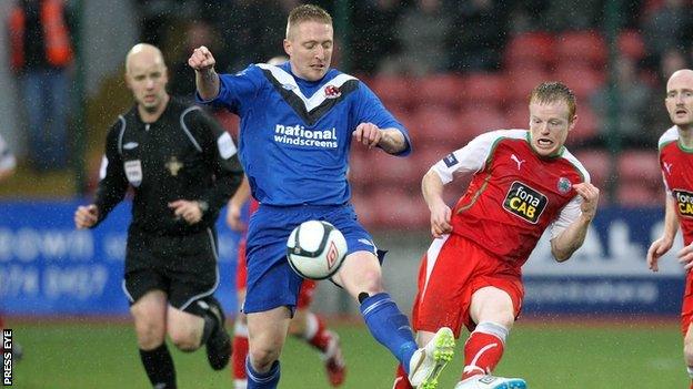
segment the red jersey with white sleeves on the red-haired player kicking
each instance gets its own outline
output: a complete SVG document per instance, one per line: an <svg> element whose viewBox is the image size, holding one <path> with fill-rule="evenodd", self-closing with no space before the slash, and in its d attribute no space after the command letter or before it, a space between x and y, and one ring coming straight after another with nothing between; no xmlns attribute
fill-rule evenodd
<svg viewBox="0 0 693 389"><path fill-rule="evenodd" d="M566 149L552 157L536 154L526 130L482 134L432 170L444 184L455 173L473 174L452 209L452 233L512 262L518 272L549 226L554 238L580 216L573 184L590 181Z"/></svg>

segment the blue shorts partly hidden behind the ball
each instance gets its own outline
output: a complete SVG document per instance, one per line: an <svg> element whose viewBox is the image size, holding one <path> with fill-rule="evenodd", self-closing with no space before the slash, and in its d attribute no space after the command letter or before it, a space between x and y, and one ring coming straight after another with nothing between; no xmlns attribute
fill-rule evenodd
<svg viewBox="0 0 693 389"><path fill-rule="evenodd" d="M307 221L333 224L346 238L348 254L376 255L373 238L356 221L351 204L345 205L260 205L248 225L248 286L243 313L259 313L281 306L294 309L303 278L287 262L287 239L293 228Z"/></svg>

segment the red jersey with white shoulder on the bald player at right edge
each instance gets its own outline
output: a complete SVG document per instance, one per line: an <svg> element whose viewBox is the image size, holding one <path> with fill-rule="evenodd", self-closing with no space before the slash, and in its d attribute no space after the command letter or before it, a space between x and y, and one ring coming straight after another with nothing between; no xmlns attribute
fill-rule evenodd
<svg viewBox="0 0 693 389"><path fill-rule="evenodd" d="M660 167L666 194L676 202L683 243L693 242L693 150L679 143L675 125L660 137Z"/></svg>

